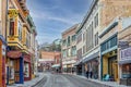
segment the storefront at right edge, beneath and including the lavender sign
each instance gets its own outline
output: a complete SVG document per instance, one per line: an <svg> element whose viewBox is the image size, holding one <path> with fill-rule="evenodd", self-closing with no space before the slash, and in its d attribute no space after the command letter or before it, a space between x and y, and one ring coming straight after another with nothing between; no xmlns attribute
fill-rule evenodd
<svg viewBox="0 0 131 87"><path fill-rule="evenodd" d="M131 86L131 47L120 50L120 84Z"/></svg>

